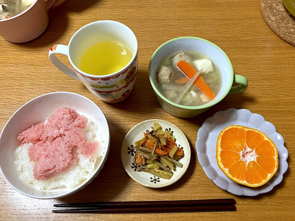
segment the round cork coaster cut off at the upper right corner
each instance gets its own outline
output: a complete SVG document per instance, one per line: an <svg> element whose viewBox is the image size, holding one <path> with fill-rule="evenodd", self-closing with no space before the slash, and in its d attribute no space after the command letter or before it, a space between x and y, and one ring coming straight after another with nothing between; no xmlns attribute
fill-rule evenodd
<svg viewBox="0 0 295 221"><path fill-rule="evenodd" d="M260 0L264 21L281 39L295 46L295 17L285 8L282 0Z"/></svg>

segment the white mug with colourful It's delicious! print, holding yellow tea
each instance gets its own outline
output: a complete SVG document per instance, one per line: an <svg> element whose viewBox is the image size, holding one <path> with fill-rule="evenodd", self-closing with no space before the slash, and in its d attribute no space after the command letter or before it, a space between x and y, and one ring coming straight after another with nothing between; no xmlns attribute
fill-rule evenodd
<svg viewBox="0 0 295 221"><path fill-rule="evenodd" d="M121 70L109 75L90 75L81 71L82 55L92 45L100 41L119 41L126 45L133 56ZM68 56L74 71L63 64L55 54ZM138 56L137 40L130 28L117 21L95 21L79 29L69 41L69 45L53 45L49 50L50 61L65 74L81 81L89 91L108 103L123 101L130 94L136 80Z"/></svg>

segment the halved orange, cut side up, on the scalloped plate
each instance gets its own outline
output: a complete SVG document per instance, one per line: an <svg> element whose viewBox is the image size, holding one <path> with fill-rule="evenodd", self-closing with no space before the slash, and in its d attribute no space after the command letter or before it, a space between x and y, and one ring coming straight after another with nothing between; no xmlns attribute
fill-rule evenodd
<svg viewBox="0 0 295 221"><path fill-rule="evenodd" d="M259 130L232 125L218 136L216 159L231 180L249 187L267 183L277 172L277 147Z"/></svg>

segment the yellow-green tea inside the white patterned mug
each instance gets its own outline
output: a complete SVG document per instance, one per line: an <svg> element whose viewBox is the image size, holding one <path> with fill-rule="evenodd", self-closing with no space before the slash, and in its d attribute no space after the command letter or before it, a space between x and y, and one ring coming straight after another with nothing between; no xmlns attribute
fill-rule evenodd
<svg viewBox="0 0 295 221"><path fill-rule="evenodd" d="M131 50L118 41L102 41L88 48L80 69L91 75L108 75L124 68L132 58Z"/></svg>

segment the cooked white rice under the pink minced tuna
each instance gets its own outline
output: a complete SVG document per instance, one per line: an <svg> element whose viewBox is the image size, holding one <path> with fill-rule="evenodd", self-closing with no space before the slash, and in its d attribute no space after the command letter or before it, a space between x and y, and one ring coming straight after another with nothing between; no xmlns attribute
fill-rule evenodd
<svg viewBox="0 0 295 221"><path fill-rule="evenodd" d="M45 121L45 124L47 121ZM20 171L20 179L24 182L35 186L39 190L50 190L57 187L74 188L80 184L81 180L89 178L95 172L96 160L104 156L106 149L104 134L101 128L95 125L88 118L86 128L84 130L85 140L89 142L98 142L98 148L91 158L87 158L83 154L78 154L77 163L73 165L65 173L58 174L49 180L36 180L33 175L34 162L30 162L28 149L32 143L25 143L14 151L14 161L16 169ZM78 161L79 160L79 161Z"/></svg>

